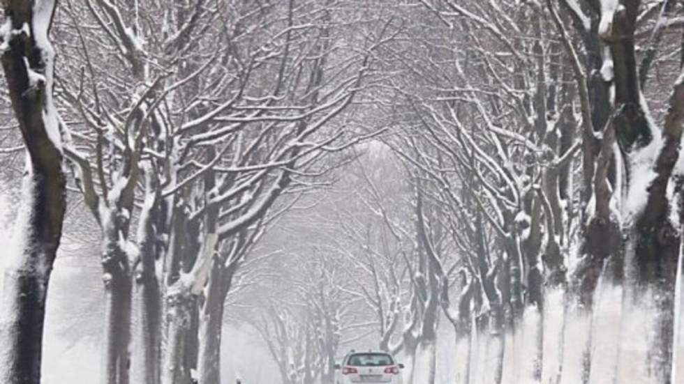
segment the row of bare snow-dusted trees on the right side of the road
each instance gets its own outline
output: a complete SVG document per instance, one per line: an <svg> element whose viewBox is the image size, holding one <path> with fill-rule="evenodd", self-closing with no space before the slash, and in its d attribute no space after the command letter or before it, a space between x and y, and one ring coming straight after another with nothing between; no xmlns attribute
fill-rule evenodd
<svg viewBox="0 0 684 384"><path fill-rule="evenodd" d="M361 114L394 128L366 148L394 158L345 182L360 207L320 210L406 383L435 382L439 321L459 383L676 382L681 12L392 8L404 28Z"/></svg>

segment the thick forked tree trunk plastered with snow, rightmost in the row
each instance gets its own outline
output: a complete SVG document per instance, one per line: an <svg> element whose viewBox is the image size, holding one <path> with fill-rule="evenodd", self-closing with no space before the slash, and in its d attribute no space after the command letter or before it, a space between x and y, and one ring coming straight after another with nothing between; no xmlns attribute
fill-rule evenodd
<svg viewBox="0 0 684 384"><path fill-rule="evenodd" d="M681 245L682 217L675 219L678 207L670 189L678 189L673 180L680 155L684 116L684 72L674 84L669 110L662 129L649 118L648 107L639 89L634 31L637 27L639 2L625 2L613 14L602 15L609 28L602 31L615 63L615 130L617 142L625 158L628 196L636 195L643 207L627 206L633 220L625 229L625 290L623 311L627 321L641 317L648 351L622 348L621 367L631 358L645 362L645 367L626 378L639 383L671 383L672 343L674 340L674 297L676 270ZM655 149L654 149L655 147ZM654 153L648 169L632 161L635 156ZM644 170L653 171L648 187L630 180ZM674 184L674 185L673 185ZM672 188L671 188L672 187ZM629 323L623 327L625 336ZM625 340L625 336L622 337ZM630 335L631 337L631 335ZM624 344L623 344L624 345ZM642 350L643 351L643 350ZM629 354L629 355L627 355ZM619 364L619 363L618 363ZM618 371L623 371L618 369ZM618 378L619 380L620 378Z"/></svg>

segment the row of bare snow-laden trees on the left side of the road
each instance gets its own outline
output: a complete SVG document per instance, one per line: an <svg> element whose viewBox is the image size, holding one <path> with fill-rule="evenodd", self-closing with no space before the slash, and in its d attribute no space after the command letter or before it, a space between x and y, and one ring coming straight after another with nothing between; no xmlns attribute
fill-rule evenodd
<svg viewBox="0 0 684 384"><path fill-rule="evenodd" d="M3 383L40 382L68 192L101 232L103 383L220 381L223 307L246 254L343 162L327 155L373 135L340 116L392 28L337 3L4 3L29 160L0 309Z"/></svg>

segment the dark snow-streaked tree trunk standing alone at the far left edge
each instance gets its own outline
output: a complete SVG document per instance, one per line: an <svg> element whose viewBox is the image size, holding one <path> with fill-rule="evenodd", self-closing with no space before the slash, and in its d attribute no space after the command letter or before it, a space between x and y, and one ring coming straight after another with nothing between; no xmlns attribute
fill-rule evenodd
<svg viewBox="0 0 684 384"><path fill-rule="evenodd" d="M4 1L1 61L27 148L15 248L5 254L0 302L0 382L40 383L47 284L61 239L66 177L52 102L52 0Z"/></svg>

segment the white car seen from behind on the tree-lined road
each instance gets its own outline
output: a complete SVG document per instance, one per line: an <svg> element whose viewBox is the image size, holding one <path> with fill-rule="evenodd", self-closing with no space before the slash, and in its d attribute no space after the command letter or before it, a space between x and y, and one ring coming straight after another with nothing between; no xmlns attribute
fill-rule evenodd
<svg viewBox="0 0 684 384"><path fill-rule="evenodd" d="M335 384L401 384L403 364L386 352L351 351L335 369Z"/></svg>

